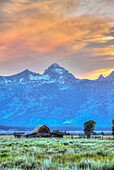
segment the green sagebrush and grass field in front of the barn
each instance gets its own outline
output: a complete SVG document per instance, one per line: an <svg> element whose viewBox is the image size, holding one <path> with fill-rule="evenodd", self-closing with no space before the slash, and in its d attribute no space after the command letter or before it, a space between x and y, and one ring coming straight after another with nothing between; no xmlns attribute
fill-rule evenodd
<svg viewBox="0 0 114 170"><path fill-rule="evenodd" d="M0 138L0 169L113 170L113 140Z"/></svg>

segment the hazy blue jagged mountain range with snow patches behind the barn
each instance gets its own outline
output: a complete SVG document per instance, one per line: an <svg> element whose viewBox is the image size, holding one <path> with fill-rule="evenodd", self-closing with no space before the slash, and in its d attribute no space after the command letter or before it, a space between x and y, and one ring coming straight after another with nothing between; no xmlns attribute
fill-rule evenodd
<svg viewBox="0 0 114 170"><path fill-rule="evenodd" d="M114 71L96 80L75 78L52 64L43 74L28 69L0 76L0 124L8 126L111 127L114 118Z"/></svg>

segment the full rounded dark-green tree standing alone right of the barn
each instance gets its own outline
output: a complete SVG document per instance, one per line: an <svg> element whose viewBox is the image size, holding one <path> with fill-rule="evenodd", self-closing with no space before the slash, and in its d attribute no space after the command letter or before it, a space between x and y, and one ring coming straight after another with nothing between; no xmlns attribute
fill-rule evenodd
<svg viewBox="0 0 114 170"><path fill-rule="evenodd" d="M95 124L96 122L94 120L89 120L84 123L84 132L87 138L90 138L91 133L95 130Z"/></svg>

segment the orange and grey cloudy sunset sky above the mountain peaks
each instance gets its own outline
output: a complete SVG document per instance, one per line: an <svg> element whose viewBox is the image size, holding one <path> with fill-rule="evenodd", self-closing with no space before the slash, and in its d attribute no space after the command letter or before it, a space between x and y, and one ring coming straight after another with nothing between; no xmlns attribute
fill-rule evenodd
<svg viewBox="0 0 114 170"><path fill-rule="evenodd" d="M114 70L114 0L0 0L0 75L53 63L77 78Z"/></svg>

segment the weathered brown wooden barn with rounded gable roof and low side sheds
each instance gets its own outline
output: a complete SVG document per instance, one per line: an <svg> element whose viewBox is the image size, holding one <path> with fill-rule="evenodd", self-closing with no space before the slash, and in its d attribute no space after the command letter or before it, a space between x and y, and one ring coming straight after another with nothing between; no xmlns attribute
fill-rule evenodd
<svg viewBox="0 0 114 170"><path fill-rule="evenodd" d="M63 137L63 135L54 134L50 132L50 129L45 125L37 126L32 133L22 135L22 138L39 138L39 137Z"/></svg>

